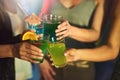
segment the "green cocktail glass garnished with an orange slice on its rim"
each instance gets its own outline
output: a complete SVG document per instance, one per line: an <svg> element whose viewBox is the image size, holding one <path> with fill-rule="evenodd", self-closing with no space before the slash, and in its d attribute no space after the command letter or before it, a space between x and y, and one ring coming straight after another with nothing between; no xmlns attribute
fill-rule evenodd
<svg viewBox="0 0 120 80"><path fill-rule="evenodd" d="M38 28L36 33L32 30L27 30L21 35L21 39L23 41L28 40L30 44L33 44L38 48L40 48L42 50L42 53L45 55L47 53L49 34L43 35L41 31L43 31L42 28ZM41 63L44 60L44 56L42 59L35 59L35 58L32 59Z"/></svg>

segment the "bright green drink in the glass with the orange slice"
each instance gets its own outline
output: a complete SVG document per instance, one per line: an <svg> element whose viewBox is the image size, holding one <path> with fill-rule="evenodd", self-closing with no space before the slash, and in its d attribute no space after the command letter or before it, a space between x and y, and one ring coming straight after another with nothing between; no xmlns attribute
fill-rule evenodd
<svg viewBox="0 0 120 80"><path fill-rule="evenodd" d="M37 46L38 48L40 48L43 52L43 54L45 55L47 53L47 48L48 48L48 40L38 40L38 41L31 41L31 43L35 46ZM44 60L44 57L43 59L34 59L33 60L37 60L39 61L40 63L43 62Z"/></svg>

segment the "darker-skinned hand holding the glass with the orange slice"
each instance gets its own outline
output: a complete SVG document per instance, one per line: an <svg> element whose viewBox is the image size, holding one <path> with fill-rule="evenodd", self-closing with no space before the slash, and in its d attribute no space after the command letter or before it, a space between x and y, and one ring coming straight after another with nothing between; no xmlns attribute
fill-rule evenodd
<svg viewBox="0 0 120 80"><path fill-rule="evenodd" d="M44 56L41 49L27 42L21 42L21 43L15 44L12 50L13 50L13 55L15 57L18 57L20 59L23 59L32 63L38 63L38 61L32 60L33 58L42 59Z"/></svg>

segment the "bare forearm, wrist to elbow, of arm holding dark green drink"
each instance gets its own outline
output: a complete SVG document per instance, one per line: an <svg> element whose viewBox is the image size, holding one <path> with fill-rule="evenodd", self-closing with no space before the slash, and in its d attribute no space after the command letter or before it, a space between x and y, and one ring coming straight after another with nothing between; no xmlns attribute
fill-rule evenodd
<svg viewBox="0 0 120 80"><path fill-rule="evenodd" d="M82 42L93 42L98 40L99 32L94 29L83 29L72 27L69 37ZM75 34L73 34L75 33Z"/></svg>

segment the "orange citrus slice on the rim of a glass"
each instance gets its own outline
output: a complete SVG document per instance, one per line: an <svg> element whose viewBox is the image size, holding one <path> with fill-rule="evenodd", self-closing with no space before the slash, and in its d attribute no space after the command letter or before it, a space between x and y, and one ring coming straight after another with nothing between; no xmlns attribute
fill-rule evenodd
<svg viewBox="0 0 120 80"><path fill-rule="evenodd" d="M33 31L26 31L22 35L22 40L38 40L38 36Z"/></svg>

